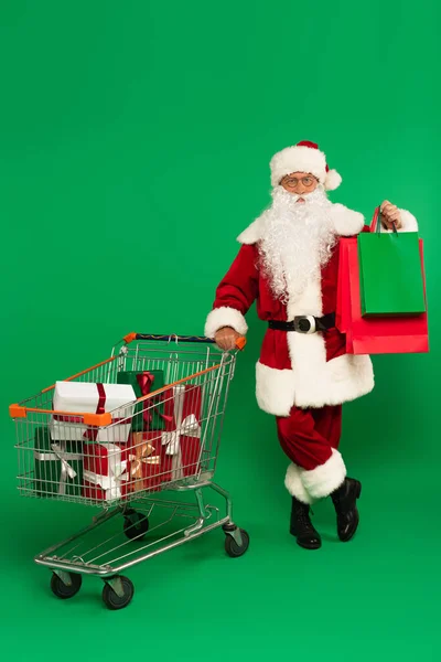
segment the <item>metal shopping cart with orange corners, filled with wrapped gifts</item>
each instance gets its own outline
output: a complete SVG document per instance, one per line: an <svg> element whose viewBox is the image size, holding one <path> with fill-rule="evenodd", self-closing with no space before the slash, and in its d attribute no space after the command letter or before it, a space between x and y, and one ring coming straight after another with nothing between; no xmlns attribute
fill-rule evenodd
<svg viewBox="0 0 441 662"><path fill-rule="evenodd" d="M65 381L106 385L140 375L143 395L136 401L73 415L53 409L51 386L10 406L21 494L100 508L89 526L35 557L52 570L55 596L73 597L82 576L95 575L105 581L105 605L126 607L133 585L123 570L219 527L229 556L247 551L229 494L213 482L236 356L206 338L130 333L109 359ZM159 388L152 375L162 375ZM175 492L173 501L162 498L165 490ZM208 490L225 512L206 502Z"/></svg>

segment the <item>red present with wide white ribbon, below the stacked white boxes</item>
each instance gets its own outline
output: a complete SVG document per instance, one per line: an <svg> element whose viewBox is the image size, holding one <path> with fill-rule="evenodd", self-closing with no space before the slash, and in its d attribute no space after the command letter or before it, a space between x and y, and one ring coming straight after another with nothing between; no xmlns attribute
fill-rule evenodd
<svg viewBox="0 0 441 662"><path fill-rule="evenodd" d="M87 444L84 447L83 496L118 501L125 496L127 445Z"/></svg>

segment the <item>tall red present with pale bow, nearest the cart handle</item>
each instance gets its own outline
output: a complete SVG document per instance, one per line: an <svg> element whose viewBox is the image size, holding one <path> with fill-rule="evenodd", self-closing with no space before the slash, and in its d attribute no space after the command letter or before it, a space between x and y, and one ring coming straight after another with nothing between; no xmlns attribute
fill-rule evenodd
<svg viewBox="0 0 441 662"><path fill-rule="evenodd" d="M173 457L173 480L197 473L201 462L201 386L178 385L164 394L165 415L171 419L162 435L166 455Z"/></svg>

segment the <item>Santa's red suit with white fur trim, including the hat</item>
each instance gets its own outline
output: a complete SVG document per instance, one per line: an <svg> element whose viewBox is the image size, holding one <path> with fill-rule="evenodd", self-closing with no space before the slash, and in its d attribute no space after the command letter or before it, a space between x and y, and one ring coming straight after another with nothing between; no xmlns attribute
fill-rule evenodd
<svg viewBox="0 0 441 662"><path fill-rule="evenodd" d="M279 161L271 163L273 185L290 172L312 172L319 174L327 190L336 188L341 178L329 171L316 146L305 149L308 153L301 153L300 159L298 147L288 148L288 156L277 154ZM319 167L314 161L318 157ZM205 334L214 338L220 328L232 327L245 335L245 316L254 301L265 322L291 321L298 316L322 318L335 312L340 238L357 235L365 224L361 213L342 204L332 204L330 214L336 235L332 256L301 292L287 292L287 303L273 295L259 264L262 217L251 223L239 235L240 249L217 287ZM416 229L417 222L409 212L401 210L401 221L402 229ZM347 354L345 337L336 328L308 334L267 329L256 365L256 396L259 407L277 417L280 444L291 459L286 487L293 496L311 503L342 484L346 476L337 450L342 404L373 388L370 357Z"/></svg>

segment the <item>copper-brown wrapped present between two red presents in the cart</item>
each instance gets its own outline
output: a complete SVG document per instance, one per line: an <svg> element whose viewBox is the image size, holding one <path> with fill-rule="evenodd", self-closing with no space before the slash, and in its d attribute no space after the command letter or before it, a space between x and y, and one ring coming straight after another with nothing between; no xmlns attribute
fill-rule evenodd
<svg viewBox="0 0 441 662"><path fill-rule="evenodd" d="M172 478L172 457L162 445L162 430L132 433L128 450L128 493L160 489Z"/></svg>

